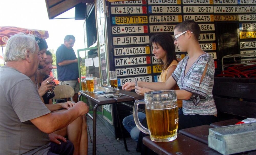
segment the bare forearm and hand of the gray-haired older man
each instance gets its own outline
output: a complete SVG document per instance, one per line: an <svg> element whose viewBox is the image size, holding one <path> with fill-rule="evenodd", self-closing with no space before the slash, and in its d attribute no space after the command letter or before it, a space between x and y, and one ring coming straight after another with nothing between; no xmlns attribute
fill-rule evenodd
<svg viewBox="0 0 256 155"><path fill-rule="evenodd" d="M79 116L88 113L88 111L89 107L84 102L79 101L68 110L48 113L30 121L42 132L52 133L64 128Z"/></svg>

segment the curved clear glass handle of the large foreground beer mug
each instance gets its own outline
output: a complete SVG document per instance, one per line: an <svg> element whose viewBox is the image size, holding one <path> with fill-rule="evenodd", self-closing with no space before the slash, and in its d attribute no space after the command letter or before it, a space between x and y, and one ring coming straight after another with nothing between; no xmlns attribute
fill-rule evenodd
<svg viewBox="0 0 256 155"><path fill-rule="evenodd" d="M149 135L149 130L141 125L141 122L138 119L138 105L139 104L145 104L144 100L135 100L134 106L133 106L133 118L135 121L136 126L145 134Z"/></svg>

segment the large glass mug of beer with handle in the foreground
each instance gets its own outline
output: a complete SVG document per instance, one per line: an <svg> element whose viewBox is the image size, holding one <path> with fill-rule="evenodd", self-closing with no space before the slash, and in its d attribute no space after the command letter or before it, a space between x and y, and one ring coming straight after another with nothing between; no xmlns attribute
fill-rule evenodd
<svg viewBox="0 0 256 155"><path fill-rule="evenodd" d="M138 119L138 105L145 104L148 129ZM151 140L167 142L177 138L178 105L174 90L151 91L144 94L144 100L136 100L133 107L136 126L149 134Z"/></svg>

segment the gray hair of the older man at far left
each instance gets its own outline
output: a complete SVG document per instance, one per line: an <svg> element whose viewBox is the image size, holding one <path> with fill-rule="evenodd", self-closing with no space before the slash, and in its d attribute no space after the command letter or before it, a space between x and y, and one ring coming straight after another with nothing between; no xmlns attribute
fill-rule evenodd
<svg viewBox="0 0 256 155"><path fill-rule="evenodd" d="M38 49L35 36L24 33L13 35L7 41L4 61L23 60L26 58L26 55L34 54Z"/></svg>

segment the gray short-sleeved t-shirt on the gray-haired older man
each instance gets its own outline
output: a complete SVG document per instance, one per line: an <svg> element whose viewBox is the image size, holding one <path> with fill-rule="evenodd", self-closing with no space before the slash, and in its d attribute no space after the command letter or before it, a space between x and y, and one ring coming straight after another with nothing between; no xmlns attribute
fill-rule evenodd
<svg viewBox="0 0 256 155"><path fill-rule="evenodd" d="M0 68L0 154L47 154L48 134L30 120L50 113L35 84L17 70Z"/></svg>

